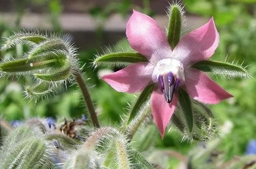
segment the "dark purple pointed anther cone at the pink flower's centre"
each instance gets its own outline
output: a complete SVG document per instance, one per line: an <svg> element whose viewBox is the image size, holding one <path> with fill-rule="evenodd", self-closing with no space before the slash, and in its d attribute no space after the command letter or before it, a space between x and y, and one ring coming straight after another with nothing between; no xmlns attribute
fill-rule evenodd
<svg viewBox="0 0 256 169"><path fill-rule="evenodd" d="M172 102L174 92L180 85L180 79L173 73L166 73L158 76L158 85L164 94L166 102Z"/></svg>

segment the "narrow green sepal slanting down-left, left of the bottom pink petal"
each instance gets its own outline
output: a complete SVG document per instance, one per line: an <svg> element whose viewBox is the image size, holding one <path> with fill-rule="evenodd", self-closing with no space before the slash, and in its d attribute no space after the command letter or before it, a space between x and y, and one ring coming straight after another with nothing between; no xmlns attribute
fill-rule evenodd
<svg viewBox="0 0 256 169"><path fill-rule="evenodd" d="M134 107L132 108L132 111L130 112L129 118L128 118L128 124L132 121L132 119L135 118L136 114L138 114L141 109L144 108L144 106L149 102L150 96L153 92L155 85L151 84L148 85L140 94L138 100L136 101Z"/></svg>

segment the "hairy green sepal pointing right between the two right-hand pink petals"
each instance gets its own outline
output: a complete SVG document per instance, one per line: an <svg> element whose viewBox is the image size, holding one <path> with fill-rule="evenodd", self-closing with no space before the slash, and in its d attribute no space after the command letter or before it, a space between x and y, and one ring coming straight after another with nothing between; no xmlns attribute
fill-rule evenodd
<svg viewBox="0 0 256 169"><path fill-rule="evenodd" d="M204 72L214 73L215 75L221 75L227 78L241 78L250 79L251 75L241 66L233 65L230 63L224 63L219 61L200 61L193 65L194 68Z"/></svg>

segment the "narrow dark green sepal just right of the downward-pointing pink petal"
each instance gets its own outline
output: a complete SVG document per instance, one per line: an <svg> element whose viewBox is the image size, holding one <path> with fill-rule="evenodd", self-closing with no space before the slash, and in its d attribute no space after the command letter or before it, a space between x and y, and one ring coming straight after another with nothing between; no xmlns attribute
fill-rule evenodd
<svg viewBox="0 0 256 169"><path fill-rule="evenodd" d="M193 111L192 111L190 98L182 88L179 89L179 104L185 116L186 124L188 126L189 132L191 133L193 130L193 123L194 123Z"/></svg>

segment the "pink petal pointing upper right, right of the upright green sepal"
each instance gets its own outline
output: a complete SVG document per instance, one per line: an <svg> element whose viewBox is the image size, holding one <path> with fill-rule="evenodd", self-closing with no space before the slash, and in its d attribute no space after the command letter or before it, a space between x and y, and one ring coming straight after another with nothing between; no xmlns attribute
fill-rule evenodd
<svg viewBox="0 0 256 169"><path fill-rule="evenodd" d="M180 59L183 65L192 65L206 60L214 54L218 47L219 33L213 18L200 28L188 33L173 50L173 57Z"/></svg>

